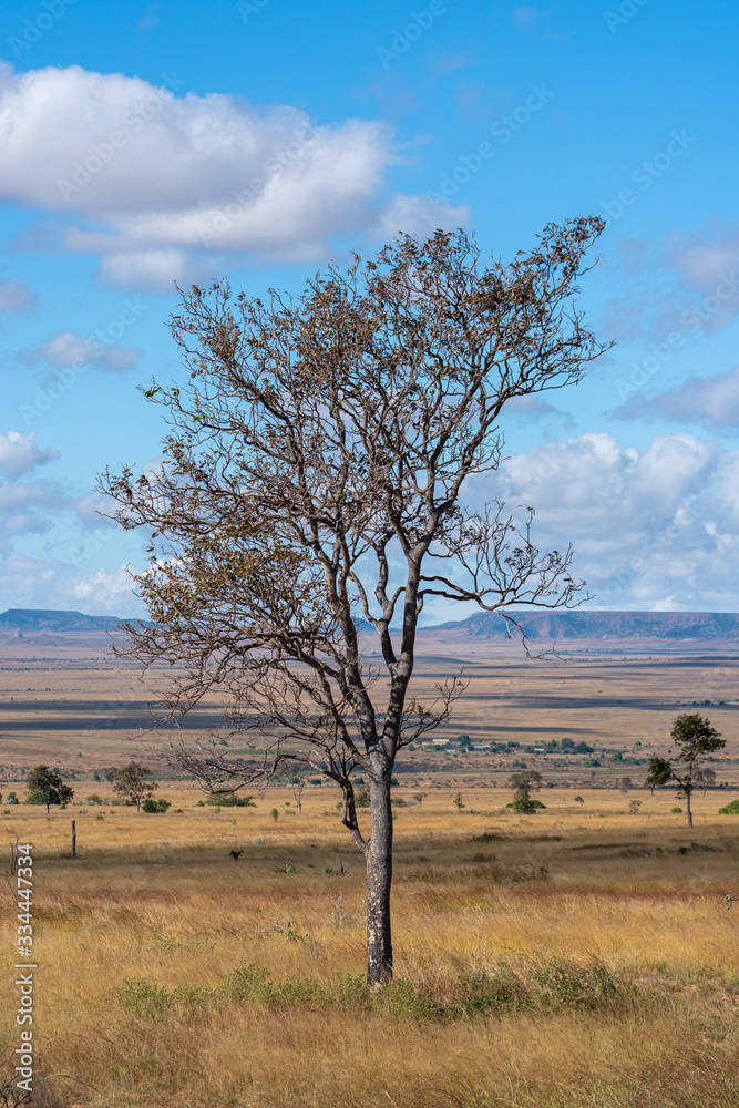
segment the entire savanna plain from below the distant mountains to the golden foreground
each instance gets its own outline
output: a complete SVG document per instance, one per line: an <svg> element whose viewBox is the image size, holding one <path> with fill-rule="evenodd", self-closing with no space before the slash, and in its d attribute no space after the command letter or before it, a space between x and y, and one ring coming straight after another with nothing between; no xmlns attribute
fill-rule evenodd
<svg viewBox="0 0 739 1108"><path fill-rule="evenodd" d="M338 792L308 784L300 813L286 786L252 790L254 807L198 803L166 737L137 730L134 670L94 643L2 645L4 798L22 801L39 763L74 788L49 815L0 803L6 844L33 843L37 1105L739 1102L739 815L719 814L739 794L736 660L434 648L421 687L458 656L470 687L435 736L449 747L397 768L396 979L369 995L363 864ZM688 829L675 790L639 786L690 710L727 747ZM102 770L132 758L168 811L113 804ZM522 763L544 782L532 815L506 807Z"/></svg>

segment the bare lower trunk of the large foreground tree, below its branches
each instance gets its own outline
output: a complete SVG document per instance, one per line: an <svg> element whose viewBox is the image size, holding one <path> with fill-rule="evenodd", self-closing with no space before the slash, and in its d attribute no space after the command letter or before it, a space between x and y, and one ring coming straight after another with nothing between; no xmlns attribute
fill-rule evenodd
<svg viewBox="0 0 739 1108"><path fill-rule="evenodd" d="M389 770L381 781L370 778L370 804L372 835L367 852L367 982L370 988L379 988L392 978L392 808Z"/></svg>

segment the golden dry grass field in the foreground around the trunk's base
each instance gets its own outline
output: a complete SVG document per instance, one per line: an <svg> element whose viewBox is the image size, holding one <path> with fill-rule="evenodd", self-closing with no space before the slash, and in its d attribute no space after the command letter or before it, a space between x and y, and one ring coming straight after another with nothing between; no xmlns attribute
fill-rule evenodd
<svg viewBox="0 0 739 1108"><path fill-rule="evenodd" d="M397 979L377 996L362 982L362 858L333 792L306 790L302 815L277 789L235 810L163 794L166 814L0 815L6 841L30 840L37 859L39 1104L739 1102L739 903L725 901L739 896L739 818L717 814L726 793L696 798L692 830L670 814L674 794L640 793L636 815L602 790L583 791L582 810L547 790L531 817L500 790L464 790L460 812L441 790L399 807ZM8 964L14 923L3 913Z"/></svg>

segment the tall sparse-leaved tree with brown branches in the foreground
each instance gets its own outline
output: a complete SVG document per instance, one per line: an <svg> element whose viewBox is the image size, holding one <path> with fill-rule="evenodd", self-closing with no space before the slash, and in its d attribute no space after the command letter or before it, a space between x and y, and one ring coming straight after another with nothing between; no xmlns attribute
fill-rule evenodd
<svg viewBox="0 0 739 1108"><path fill-rule="evenodd" d="M217 689L234 732L260 735L256 771L216 742L173 743L205 789L268 780L296 743L341 788L367 862L372 986L392 974L393 765L464 688L449 677L432 704L411 690L427 598L556 608L583 584L569 547L535 546L533 510L461 497L500 464L505 406L576 382L605 349L574 304L602 229L550 225L507 264L483 263L462 232L406 236L266 302L193 286L172 320L189 380L145 391L165 410L165 461L100 479L119 522L153 532L134 575L151 624L129 625L116 653L171 663L163 719ZM380 661L366 658L372 633ZM355 771L369 782L369 838Z"/></svg>

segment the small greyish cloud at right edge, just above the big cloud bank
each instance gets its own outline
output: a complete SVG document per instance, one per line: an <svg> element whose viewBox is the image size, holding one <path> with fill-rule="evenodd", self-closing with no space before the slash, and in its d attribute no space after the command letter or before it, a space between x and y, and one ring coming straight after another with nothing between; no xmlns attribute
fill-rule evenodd
<svg viewBox="0 0 739 1108"><path fill-rule="evenodd" d="M714 431L739 427L739 366L712 377L690 377L679 388L630 400L614 412L619 419L661 417L702 423Z"/></svg>

